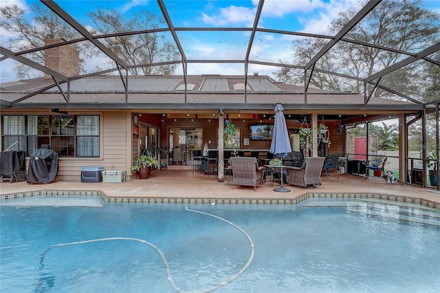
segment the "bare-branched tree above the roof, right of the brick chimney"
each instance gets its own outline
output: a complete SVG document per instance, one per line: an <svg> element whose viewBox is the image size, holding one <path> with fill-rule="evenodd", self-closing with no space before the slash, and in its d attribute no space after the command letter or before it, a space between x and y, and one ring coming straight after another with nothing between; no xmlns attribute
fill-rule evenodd
<svg viewBox="0 0 440 293"><path fill-rule="evenodd" d="M127 19L115 10L98 10L90 12L88 16L96 25L99 34L118 34L140 30L154 30L159 28L163 19L157 19L148 11L139 11ZM129 69L131 74L174 74L177 64L147 66L151 63L179 60L177 47L166 41L163 34L151 32L148 34L121 35L102 40L123 61L129 65L145 65Z"/></svg>

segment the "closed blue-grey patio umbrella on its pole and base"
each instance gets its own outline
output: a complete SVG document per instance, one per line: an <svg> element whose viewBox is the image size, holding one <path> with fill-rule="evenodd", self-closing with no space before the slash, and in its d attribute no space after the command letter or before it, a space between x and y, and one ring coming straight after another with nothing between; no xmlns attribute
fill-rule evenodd
<svg viewBox="0 0 440 293"><path fill-rule="evenodd" d="M292 148L290 146L289 133L287 132L287 124L284 118L284 109L281 104L276 104L275 106L275 121L274 121L274 135L272 136L272 143L270 144L270 152L274 154L275 157L281 160L281 188L274 188L274 191L287 193L290 191L288 188L284 188L283 182L283 158L292 153Z"/></svg>

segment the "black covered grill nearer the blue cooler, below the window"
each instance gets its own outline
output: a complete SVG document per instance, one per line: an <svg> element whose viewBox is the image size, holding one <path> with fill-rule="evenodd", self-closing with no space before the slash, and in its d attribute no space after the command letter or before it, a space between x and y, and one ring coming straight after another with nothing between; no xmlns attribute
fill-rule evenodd
<svg viewBox="0 0 440 293"><path fill-rule="evenodd" d="M30 155L28 183L49 184L58 175L58 153L53 149L37 149Z"/></svg>

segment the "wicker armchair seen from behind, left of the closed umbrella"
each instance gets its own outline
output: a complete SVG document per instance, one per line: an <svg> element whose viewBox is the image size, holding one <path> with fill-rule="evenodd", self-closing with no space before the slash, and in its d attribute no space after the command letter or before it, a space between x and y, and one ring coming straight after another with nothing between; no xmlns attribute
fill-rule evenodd
<svg viewBox="0 0 440 293"><path fill-rule="evenodd" d="M256 158L231 157L232 166L232 189L234 185L263 186L263 167L258 165Z"/></svg>

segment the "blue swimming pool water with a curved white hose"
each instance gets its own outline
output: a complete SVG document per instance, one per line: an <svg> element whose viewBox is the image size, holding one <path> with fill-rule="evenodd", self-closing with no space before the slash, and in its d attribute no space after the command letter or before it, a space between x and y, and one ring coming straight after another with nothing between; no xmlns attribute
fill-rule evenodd
<svg viewBox="0 0 440 293"><path fill-rule="evenodd" d="M7 202L0 292L209 292L217 285L215 292L440 292L440 213L428 208L359 199Z"/></svg>

